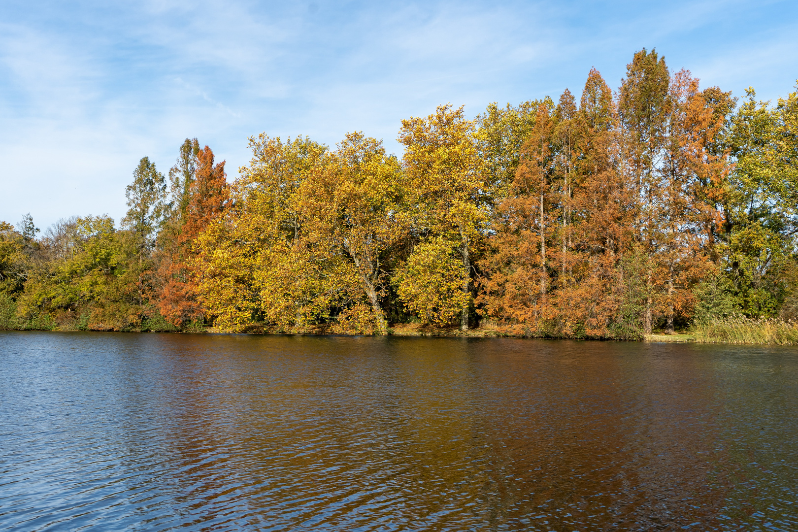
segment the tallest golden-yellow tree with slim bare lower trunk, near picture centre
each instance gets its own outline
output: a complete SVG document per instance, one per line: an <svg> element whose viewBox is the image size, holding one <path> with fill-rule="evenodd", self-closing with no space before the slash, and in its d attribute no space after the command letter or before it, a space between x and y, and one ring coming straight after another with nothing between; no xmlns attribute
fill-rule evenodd
<svg viewBox="0 0 798 532"><path fill-rule="evenodd" d="M440 105L426 118L402 120L399 141L405 146L403 167L415 208L420 238L442 237L460 254L460 290L468 297L460 308L460 329L468 329L472 254L488 220L484 161L476 142L475 123L463 108ZM429 274L420 273L420 274ZM418 285L421 286L421 285ZM405 291L405 303L415 298Z"/></svg>

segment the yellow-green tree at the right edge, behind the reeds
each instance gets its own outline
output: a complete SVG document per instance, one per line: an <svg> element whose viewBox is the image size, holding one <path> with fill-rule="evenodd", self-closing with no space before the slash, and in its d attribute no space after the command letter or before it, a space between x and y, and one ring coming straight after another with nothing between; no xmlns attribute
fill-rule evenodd
<svg viewBox="0 0 798 532"><path fill-rule="evenodd" d="M723 271L737 309L749 317L796 309L798 93L775 106L746 91L730 114L724 145L735 163L723 204Z"/></svg>

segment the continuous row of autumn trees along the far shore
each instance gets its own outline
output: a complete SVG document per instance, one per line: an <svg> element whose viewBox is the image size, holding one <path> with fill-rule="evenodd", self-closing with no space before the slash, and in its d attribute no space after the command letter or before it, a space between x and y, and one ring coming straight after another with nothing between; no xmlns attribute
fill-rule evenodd
<svg viewBox="0 0 798 532"><path fill-rule="evenodd" d="M3 319L633 339L798 315L798 93L739 100L642 49L615 91L591 69L579 97L441 105L398 140L262 134L230 183L196 139L166 176L144 157L118 229L0 225Z"/></svg>

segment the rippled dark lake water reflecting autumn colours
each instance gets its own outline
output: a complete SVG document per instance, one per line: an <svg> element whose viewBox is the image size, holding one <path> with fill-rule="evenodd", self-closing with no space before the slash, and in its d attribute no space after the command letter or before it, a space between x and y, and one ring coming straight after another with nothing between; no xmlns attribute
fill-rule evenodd
<svg viewBox="0 0 798 532"><path fill-rule="evenodd" d="M798 530L798 349L0 333L0 530Z"/></svg>

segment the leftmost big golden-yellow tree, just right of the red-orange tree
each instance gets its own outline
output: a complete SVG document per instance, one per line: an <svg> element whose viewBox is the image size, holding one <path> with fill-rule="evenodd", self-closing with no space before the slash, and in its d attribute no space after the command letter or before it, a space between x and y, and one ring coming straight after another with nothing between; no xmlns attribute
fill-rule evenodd
<svg viewBox="0 0 798 532"><path fill-rule="evenodd" d="M330 314L334 267L302 242L299 187L323 164L326 146L299 137L250 139L252 158L231 203L197 238L199 301L232 331L260 322L303 331Z"/></svg>

